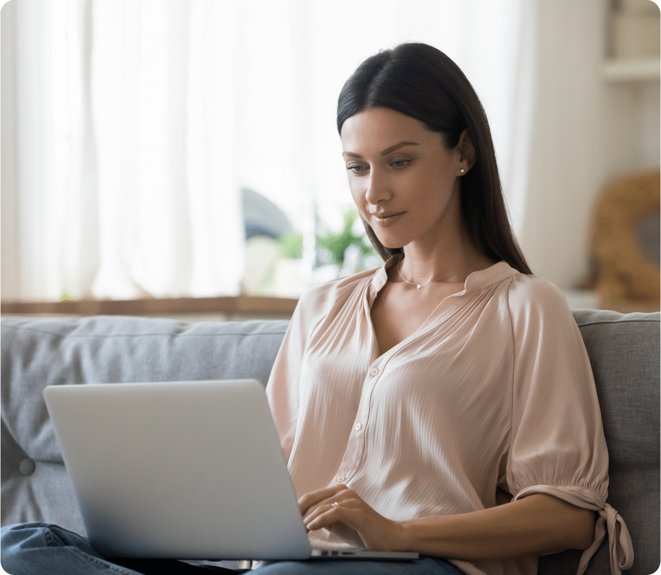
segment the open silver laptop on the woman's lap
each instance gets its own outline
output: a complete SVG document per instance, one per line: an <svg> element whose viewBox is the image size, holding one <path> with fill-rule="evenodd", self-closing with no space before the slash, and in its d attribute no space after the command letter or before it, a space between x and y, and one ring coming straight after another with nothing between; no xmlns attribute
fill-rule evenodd
<svg viewBox="0 0 661 575"><path fill-rule="evenodd" d="M392 559L312 549L254 379L44 389L87 536L106 556Z"/></svg>

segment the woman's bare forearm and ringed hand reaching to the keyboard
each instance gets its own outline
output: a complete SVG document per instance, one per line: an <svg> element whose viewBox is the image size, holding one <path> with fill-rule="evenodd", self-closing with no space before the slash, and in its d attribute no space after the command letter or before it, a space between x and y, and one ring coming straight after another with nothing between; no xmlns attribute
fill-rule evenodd
<svg viewBox="0 0 661 575"><path fill-rule="evenodd" d="M332 506L338 502L338 506ZM424 555L479 560L545 555L587 549L596 517L546 494L465 514L391 521L353 490L338 485L299 500L308 529L345 523L372 551L418 551Z"/></svg>

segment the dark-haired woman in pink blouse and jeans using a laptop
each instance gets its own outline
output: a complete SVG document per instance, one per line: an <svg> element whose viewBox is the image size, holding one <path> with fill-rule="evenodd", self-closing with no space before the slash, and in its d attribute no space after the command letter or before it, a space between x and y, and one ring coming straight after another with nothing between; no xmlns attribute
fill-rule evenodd
<svg viewBox="0 0 661 575"><path fill-rule="evenodd" d="M338 131L386 261L301 297L266 391L313 545L422 558L257 572L533 575L538 555L580 549L580 574L606 523L613 574L629 568L590 362L512 237L471 85L442 52L403 44L348 79ZM20 533L3 530L11 556L29 547Z"/></svg>

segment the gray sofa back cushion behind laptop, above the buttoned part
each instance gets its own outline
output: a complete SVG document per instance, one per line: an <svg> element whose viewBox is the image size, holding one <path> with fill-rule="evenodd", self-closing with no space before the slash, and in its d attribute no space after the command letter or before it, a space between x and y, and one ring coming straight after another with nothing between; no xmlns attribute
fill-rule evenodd
<svg viewBox="0 0 661 575"><path fill-rule="evenodd" d="M288 322L97 316L2 321L2 420L24 451L62 461L46 385L254 377L266 385Z"/></svg>

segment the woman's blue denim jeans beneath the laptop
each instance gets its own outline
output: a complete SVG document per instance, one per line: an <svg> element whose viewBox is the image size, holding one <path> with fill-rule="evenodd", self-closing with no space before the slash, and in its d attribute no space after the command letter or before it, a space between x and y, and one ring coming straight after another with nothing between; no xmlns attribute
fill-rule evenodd
<svg viewBox="0 0 661 575"><path fill-rule="evenodd" d="M120 560L124 564L122 566L100 555L85 537L58 525L38 521L2 527L0 557L3 568L11 575L202 575L202 569L236 575L247 571L159 559L134 562ZM280 561L250 573L255 575L464 575L453 564L435 557L421 557L412 562Z"/></svg>

